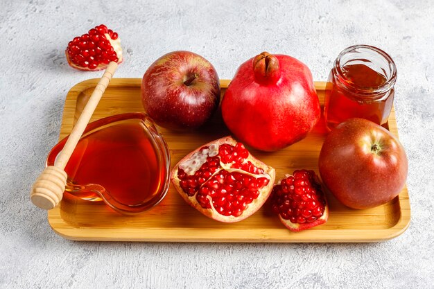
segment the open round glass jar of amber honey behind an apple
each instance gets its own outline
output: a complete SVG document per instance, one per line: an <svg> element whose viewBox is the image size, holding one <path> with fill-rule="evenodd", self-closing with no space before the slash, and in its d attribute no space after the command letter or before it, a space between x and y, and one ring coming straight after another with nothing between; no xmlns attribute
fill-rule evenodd
<svg viewBox="0 0 434 289"><path fill-rule="evenodd" d="M324 116L330 130L353 117L383 125L394 98L397 68L390 56L374 46L344 49L331 69Z"/></svg>

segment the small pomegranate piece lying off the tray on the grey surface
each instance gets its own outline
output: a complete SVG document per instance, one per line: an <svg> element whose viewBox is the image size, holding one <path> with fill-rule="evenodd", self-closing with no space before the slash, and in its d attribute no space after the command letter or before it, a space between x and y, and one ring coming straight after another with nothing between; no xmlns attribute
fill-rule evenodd
<svg viewBox="0 0 434 289"><path fill-rule="evenodd" d="M98 71L114 61L123 61L118 33L101 24L88 33L74 37L65 51L69 65L75 69Z"/></svg>

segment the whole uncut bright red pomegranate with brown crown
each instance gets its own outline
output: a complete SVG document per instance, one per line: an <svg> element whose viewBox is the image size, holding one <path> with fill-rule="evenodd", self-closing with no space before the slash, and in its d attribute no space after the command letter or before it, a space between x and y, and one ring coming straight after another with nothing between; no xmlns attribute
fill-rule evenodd
<svg viewBox="0 0 434 289"><path fill-rule="evenodd" d="M221 110L235 137L265 151L304 139L320 118L309 68L288 55L267 52L241 64Z"/></svg>

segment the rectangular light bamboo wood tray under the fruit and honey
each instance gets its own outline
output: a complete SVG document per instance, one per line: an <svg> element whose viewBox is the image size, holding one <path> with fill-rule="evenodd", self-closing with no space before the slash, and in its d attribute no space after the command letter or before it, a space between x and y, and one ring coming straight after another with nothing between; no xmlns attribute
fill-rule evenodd
<svg viewBox="0 0 434 289"><path fill-rule="evenodd" d="M60 139L71 132L73 123L94 90L98 79L80 82L71 88L64 105ZM142 112L141 79L114 78L105 91L92 121L113 114ZM221 80L222 94L229 80ZM315 82L320 102L324 102L325 82ZM217 114L209 127L200 132L179 133L160 129L171 149L172 166L191 150L230 134ZM392 110L386 127L398 135ZM324 121L306 139L273 153L251 150L252 154L276 169L276 178L297 168L318 173L318 155L325 136ZM271 213L266 203L257 213L241 222L225 224L211 220L186 204L171 185L166 198L154 209L137 216L121 216L102 202L64 198L49 211L53 230L73 240L129 240L170 242L375 242L399 236L410 222L408 191L381 207L353 210L327 195L329 221L324 225L290 232Z"/></svg>

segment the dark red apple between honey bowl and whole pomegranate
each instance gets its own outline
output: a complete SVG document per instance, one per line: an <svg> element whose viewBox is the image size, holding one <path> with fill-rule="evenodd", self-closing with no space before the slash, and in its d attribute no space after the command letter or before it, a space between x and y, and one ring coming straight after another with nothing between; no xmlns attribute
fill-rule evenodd
<svg viewBox="0 0 434 289"><path fill-rule="evenodd" d="M164 128L198 128L220 101L216 69L202 56L173 51L150 65L141 82L146 113Z"/></svg>

